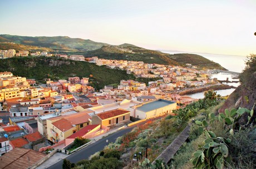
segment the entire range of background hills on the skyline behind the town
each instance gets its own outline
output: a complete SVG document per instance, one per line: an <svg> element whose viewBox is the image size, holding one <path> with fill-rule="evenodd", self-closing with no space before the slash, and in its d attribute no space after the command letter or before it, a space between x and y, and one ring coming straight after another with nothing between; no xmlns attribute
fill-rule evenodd
<svg viewBox="0 0 256 169"><path fill-rule="evenodd" d="M212 62L196 54L168 54L157 50L149 50L132 44L109 45L80 38L69 37L23 37L17 35L0 35L0 49L16 49L29 51L46 50L56 53L79 54L117 60L134 60L144 63L181 65L186 63L206 69L226 70L218 63Z"/></svg>

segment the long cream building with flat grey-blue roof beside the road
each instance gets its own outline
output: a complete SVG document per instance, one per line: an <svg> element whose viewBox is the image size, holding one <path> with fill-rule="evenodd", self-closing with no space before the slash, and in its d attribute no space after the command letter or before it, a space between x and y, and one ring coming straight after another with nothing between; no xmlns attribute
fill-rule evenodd
<svg viewBox="0 0 256 169"><path fill-rule="evenodd" d="M139 119L150 119L152 117L170 114L175 110L177 104L173 101L158 99L140 105L130 107L131 116Z"/></svg>

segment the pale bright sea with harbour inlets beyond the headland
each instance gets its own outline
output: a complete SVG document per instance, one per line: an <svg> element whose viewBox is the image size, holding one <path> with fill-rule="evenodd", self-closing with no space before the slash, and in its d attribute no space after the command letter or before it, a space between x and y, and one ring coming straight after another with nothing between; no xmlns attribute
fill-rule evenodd
<svg viewBox="0 0 256 169"><path fill-rule="evenodd" d="M169 51L161 51L161 52L169 53L169 54L184 53L184 52L169 52ZM237 73L242 73L243 69L245 68L245 60L247 59L247 57L245 56L237 56L237 55L221 55L221 54L208 54L208 53L191 53L191 54L201 55L206 59L219 63L225 69L228 69L229 71L233 71ZM218 80L226 80L227 78L229 78L229 81L238 81L239 79L236 79L236 77L232 73L229 73L229 71L212 74L212 77L217 78ZM232 85L235 87L238 87L240 85L240 83L225 83L225 84ZM225 90L216 90L216 92L221 96L227 96L233 93L234 90L235 89L232 88L232 89L225 89ZM195 93L188 96L194 99L203 99L204 92Z"/></svg>

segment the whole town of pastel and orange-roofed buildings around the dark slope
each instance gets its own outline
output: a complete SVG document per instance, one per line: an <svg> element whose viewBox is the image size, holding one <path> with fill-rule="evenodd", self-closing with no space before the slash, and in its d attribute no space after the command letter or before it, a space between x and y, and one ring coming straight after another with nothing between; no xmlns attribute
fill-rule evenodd
<svg viewBox="0 0 256 169"><path fill-rule="evenodd" d="M2 59L11 57L45 56L47 52L16 53L14 49L0 50ZM208 71L186 67L147 64L127 60L107 60L83 55L55 54L55 57L106 65L110 69L126 70L136 77L157 78L149 84L135 80L121 80L114 88L106 85L95 91L90 77L72 76L52 81L0 73L1 155L14 148L28 148L34 153L58 148L66 153L76 137L93 139L107 134L116 127L136 124L141 120L173 114L195 101L181 96L186 88L215 84ZM37 159L41 160L42 156Z"/></svg>

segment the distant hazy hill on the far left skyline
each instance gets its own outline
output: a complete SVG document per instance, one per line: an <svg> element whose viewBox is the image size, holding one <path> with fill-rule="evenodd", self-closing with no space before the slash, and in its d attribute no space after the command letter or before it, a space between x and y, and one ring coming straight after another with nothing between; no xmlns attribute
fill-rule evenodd
<svg viewBox="0 0 256 169"><path fill-rule="evenodd" d="M33 45L46 47L64 52L79 50L95 50L107 45L106 43L93 42L89 39L70 38L70 37L24 37L17 35L0 35L0 42L13 42L23 45Z"/></svg>

